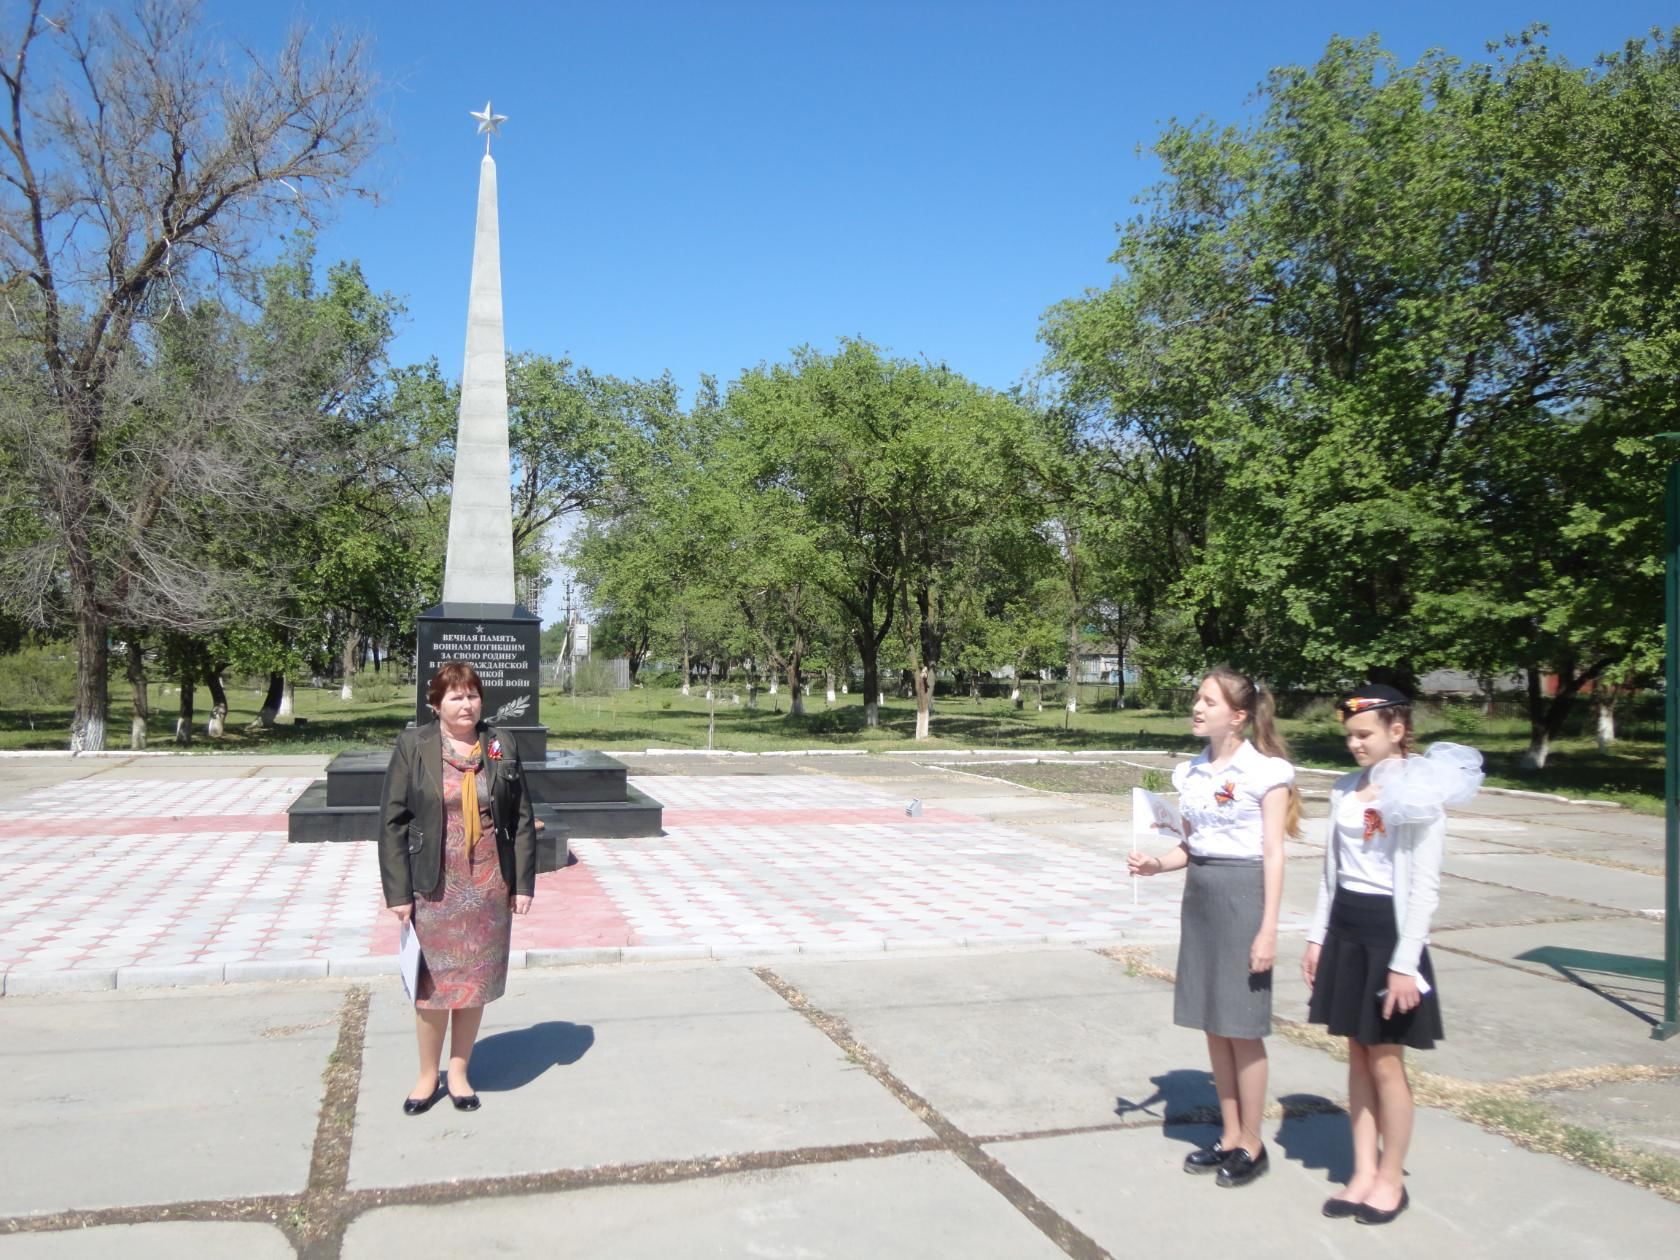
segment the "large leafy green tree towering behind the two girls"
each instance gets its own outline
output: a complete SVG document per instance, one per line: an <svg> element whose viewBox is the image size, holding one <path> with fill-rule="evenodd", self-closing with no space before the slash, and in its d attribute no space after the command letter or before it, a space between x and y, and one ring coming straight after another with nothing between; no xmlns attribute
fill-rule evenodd
<svg viewBox="0 0 1680 1260"><path fill-rule="evenodd" d="M1542 763L1650 640L1677 76L1662 34L1591 69L1537 32L1472 66L1332 40L1252 124L1166 131L1122 277L1045 336L1203 660L1522 669Z"/></svg>

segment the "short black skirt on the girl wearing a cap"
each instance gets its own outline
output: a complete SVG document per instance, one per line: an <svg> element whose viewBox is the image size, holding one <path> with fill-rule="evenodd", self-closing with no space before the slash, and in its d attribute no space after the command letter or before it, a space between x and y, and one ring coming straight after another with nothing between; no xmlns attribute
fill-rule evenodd
<svg viewBox="0 0 1680 1260"><path fill-rule="evenodd" d="M1331 902L1331 927L1319 951L1307 1020L1327 1025L1337 1037L1351 1037L1359 1045L1428 1050L1440 1042L1445 1037L1441 1003L1428 948L1418 958L1418 974L1430 981L1430 991L1404 1015L1396 1011L1391 1018L1383 1018L1379 993L1388 988L1388 963L1398 942L1393 897L1337 889L1336 900Z"/></svg>

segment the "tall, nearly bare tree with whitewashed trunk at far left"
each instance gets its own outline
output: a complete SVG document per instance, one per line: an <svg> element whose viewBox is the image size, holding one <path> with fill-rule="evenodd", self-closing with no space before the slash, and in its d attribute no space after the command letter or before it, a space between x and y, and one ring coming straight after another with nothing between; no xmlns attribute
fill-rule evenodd
<svg viewBox="0 0 1680 1260"><path fill-rule="evenodd" d="M380 141L373 76L358 42L316 47L296 32L234 79L192 3L49 20L37 0L7 25L0 291L18 321L5 386L8 412L32 420L24 477L52 531L30 563L54 575L76 627L71 746L99 749L108 632L176 605L190 564L153 528L181 497L160 455L207 449L138 422L131 400L161 354L158 324L190 309L198 279L237 272L267 223L354 190ZM239 445L195 402L208 449ZM153 499L133 497L136 465L165 487ZM237 502L240 480L218 472L198 489ZM13 603L27 596L8 586Z"/></svg>

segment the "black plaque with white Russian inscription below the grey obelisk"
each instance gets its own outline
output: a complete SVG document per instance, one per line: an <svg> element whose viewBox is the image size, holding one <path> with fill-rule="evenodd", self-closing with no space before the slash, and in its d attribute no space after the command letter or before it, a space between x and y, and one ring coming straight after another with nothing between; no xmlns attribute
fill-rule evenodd
<svg viewBox="0 0 1680 1260"><path fill-rule="evenodd" d="M415 622L415 721L430 722L432 675L450 660L479 670L484 717L497 726L538 724L543 622L519 605L440 603Z"/></svg>

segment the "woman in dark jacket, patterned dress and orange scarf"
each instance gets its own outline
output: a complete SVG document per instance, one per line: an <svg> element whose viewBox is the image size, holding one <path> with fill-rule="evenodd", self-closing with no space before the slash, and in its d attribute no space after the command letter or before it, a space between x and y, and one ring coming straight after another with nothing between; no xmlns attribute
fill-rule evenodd
<svg viewBox="0 0 1680 1260"><path fill-rule="evenodd" d="M479 674L444 665L427 687L435 722L403 731L385 771L380 879L385 904L412 921L425 963L415 991L420 1079L403 1100L418 1116L437 1100L449 1033L445 1090L477 1110L467 1079L484 1003L507 988L512 916L536 890L536 822L519 753L484 709Z"/></svg>

